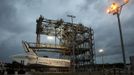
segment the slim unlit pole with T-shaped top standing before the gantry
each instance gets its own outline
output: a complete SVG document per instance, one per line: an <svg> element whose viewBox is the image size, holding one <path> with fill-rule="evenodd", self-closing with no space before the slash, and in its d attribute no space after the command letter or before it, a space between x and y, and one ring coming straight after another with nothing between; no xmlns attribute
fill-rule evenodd
<svg viewBox="0 0 134 75"><path fill-rule="evenodd" d="M72 22L72 25L73 25L73 18L76 18L75 16L73 15L67 15L67 17L70 17L71 18L71 22ZM73 63L73 72L75 72L75 30L74 31L74 37L73 37L73 52L72 52L72 55L73 55L73 60L72 60L72 63Z"/></svg>

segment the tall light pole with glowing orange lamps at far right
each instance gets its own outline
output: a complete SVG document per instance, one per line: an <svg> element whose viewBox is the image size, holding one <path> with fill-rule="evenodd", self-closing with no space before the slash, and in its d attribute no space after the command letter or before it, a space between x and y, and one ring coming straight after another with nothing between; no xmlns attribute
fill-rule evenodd
<svg viewBox="0 0 134 75"><path fill-rule="evenodd" d="M121 22L120 22L120 14L123 6L126 5L128 1L129 0L124 0L124 3L122 5L119 5L117 3L112 3L112 5L107 9L107 12L109 14L117 15L124 69L126 69L126 56L125 56L124 41L123 41Z"/></svg>

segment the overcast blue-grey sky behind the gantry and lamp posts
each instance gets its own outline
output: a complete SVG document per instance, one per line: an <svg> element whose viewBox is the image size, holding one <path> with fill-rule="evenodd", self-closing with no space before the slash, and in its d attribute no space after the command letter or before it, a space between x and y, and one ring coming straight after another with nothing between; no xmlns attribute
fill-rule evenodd
<svg viewBox="0 0 134 75"><path fill-rule="evenodd" d="M116 16L106 13L112 2L122 0L0 0L0 60L11 62L14 54L24 53L22 40L35 41L36 19L43 15L49 19L75 15L74 22L94 29L97 63L98 53L104 49L105 63L122 62L120 36ZM124 6L121 24L125 42L126 59L134 55L134 0Z"/></svg>

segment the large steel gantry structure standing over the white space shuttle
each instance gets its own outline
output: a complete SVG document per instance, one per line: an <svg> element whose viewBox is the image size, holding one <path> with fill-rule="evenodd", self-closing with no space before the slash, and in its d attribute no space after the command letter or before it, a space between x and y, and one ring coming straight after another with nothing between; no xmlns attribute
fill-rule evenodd
<svg viewBox="0 0 134 75"><path fill-rule="evenodd" d="M60 53L59 58L71 60L70 68L73 69L72 71L83 72L91 69L91 65L94 64L92 28L83 24L64 22L63 19L46 19L43 16L40 16L36 23L36 43L29 43L31 49L36 51L46 49L49 52ZM41 35L54 36L55 43L42 44Z"/></svg>

